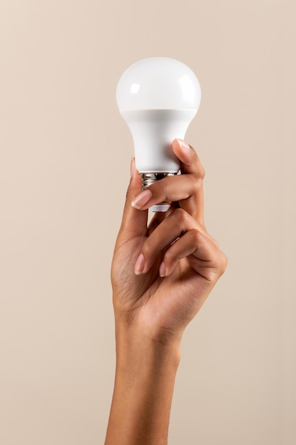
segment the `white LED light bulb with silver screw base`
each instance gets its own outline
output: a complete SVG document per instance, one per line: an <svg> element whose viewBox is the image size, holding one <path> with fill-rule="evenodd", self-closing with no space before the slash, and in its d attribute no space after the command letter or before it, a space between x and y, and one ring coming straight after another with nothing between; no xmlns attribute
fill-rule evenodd
<svg viewBox="0 0 296 445"><path fill-rule="evenodd" d="M136 168L143 189L154 181L178 173L180 163L172 152L173 139L185 139L201 98L199 81L179 60L148 58L121 75L116 100L133 136ZM170 203L153 205L163 212Z"/></svg>

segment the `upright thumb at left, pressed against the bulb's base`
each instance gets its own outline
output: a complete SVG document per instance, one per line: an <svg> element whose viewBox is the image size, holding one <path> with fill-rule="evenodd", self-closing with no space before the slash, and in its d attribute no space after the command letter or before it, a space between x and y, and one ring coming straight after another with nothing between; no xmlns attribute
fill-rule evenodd
<svg viewBox="0 0 296 445"><path fill-rule="evenodd" d="M131 203L142 191L141 175L136 170L135 160L131 159L131 181L126 193L126 203L124 205L124 214L122 216L119 235L124 236L125 240L131 240L138 236L146 236L148 210L137 210Z"/></svg>

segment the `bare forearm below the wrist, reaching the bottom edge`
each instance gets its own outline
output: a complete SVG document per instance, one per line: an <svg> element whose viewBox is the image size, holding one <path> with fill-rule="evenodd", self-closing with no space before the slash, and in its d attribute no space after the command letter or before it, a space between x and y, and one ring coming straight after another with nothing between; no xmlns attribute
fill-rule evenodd
<svg viewBox="0 0 296 445"><path fill-rule="evenodd" d="M105 445L168 443L179 346L116 327L116 377Z"/></svg>

